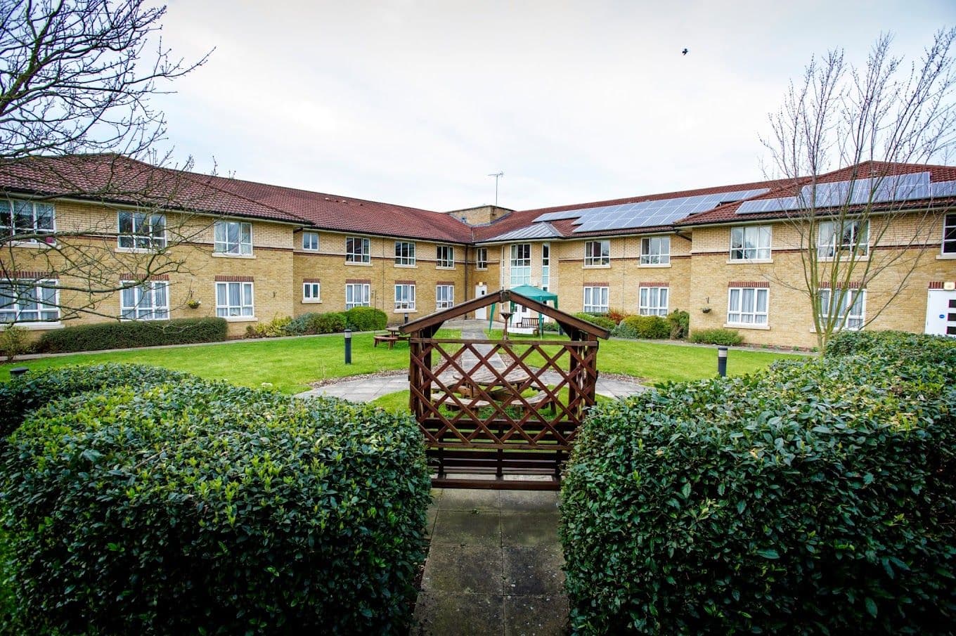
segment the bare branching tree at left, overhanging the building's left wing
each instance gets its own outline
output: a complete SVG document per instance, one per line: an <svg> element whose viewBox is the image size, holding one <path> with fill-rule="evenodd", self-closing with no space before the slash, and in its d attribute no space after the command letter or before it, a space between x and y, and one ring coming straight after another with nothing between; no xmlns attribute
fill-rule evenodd
<svg viewBox="0 0 956 636"><path fill-rule="evenodd" d="M165 120L150 98L208 55L172 57L164 13L142 0L0 0L0 322L116 318L103 297L184 272L176 248L211 223L189 211L209 180L155 150ZM54 220L54 199L114 211Z"/></svg>

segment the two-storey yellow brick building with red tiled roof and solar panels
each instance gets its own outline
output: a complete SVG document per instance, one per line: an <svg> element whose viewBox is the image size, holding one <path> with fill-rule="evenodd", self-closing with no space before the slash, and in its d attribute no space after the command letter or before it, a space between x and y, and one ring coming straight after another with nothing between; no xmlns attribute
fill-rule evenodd
<svg viewBox="0 0 956 636"><path fill-rule="evenodd" d="M868 207L906 213L874 214L873 228L847 222L841 232L815 224L816 249L899 256L865 285L846 283L855 290L840 308L846 328L885 305L867 328L956 335L956 167L860 164L817 177L820 219L847 200L851 182L873 185L860 199ZM96 155L7 164L0 187L0 232L29 237L2 244L0 323L34 330L218 315L238 335L256 321L356 305L395 323L531 284L569 311L683 309L692 330L727 326L751 343L815 345L800 292L807 242L793 212L804 180L436 212ZM73 252L47 232L69 236ZM166 271L146 267L157 252L174 261ZM142 284L97 293L88 274L107 260L104 272ZM77 269L87 275L71 276Z"/></svg>

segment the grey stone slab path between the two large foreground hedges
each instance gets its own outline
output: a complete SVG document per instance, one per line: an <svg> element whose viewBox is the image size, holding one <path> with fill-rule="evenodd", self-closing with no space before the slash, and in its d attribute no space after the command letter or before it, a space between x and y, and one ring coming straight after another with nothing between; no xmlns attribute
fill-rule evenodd
<svg viewBox="0 0 956 636"><path fill-rule="evenodd" d="M557 493L436 489L411 633L567 633Z"/></svg>

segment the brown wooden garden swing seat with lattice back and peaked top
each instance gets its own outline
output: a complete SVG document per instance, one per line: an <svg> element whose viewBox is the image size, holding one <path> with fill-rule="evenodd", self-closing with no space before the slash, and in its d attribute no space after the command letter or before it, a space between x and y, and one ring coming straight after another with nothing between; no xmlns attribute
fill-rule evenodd
<svg viewBox="0 0 956 636"><path fill-rule="evenodd" d="M434 338L445 320L492 303L552 318L570 340ZM433 485L556 490L584 411L595 404L597 339L609 332L509 290L401 329L410 337L409 406L424 433Z"/></svg>

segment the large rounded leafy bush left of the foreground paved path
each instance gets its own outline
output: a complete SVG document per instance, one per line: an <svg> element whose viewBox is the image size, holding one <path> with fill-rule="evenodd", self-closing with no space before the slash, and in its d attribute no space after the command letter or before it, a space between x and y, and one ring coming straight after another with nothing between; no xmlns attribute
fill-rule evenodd
<svg viewBox="0 0 956 636"><path fill-rule="evenodd" d="M0 485L37 633L400 633L424 558L416 423L225 383L54 403Z"/></svg>

